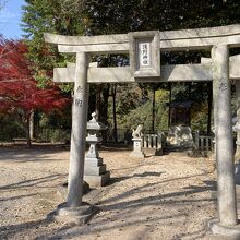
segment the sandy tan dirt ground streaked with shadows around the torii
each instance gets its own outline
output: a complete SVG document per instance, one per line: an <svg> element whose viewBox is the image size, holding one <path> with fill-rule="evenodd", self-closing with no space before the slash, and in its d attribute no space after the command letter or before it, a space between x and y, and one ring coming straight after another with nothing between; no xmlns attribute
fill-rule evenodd
<svg viewBox="0 0 240 240"><path fill-rule="evenodd" d="M145 159L129 154L100 149L111 181L83 199L100 212L86 225L70 226L47 218L63 201L58 189L67 181L69 149L0 147L0 239L220 239L207 231L217 214L213 160L184 152L146 153Z"/></svg>

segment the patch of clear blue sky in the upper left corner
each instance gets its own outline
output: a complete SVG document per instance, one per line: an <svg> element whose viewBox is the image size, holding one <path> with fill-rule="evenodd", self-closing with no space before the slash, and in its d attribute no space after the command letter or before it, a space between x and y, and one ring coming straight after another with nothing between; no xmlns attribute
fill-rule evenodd
<svg viewBox="0 0 240 240"><path fill-rule="evenodd" d="M23 31L21 29L22 5L24 0L0 0L0 34L8 39L20 39Z"/></svg>

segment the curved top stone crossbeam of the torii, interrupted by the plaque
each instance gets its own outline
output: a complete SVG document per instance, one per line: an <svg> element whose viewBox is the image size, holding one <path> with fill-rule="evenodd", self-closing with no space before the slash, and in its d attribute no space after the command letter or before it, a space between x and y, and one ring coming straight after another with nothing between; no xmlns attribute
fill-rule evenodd
<svg viewBox="0 0 240 240"><path fill-rule="evenodd" d="M158 33L160 49L164 51L211 49L212 46L218 44L226 44L230 47L240 46L240 24ZM45 40L57 44L60 52L128 52L130 50L130 35L131 33L100 36L45 34Z"/></svg>

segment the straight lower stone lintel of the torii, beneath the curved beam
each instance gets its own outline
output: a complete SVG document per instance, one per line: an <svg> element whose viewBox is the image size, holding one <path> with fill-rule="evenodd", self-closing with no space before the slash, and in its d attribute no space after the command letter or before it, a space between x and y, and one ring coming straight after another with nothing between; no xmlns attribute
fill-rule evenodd
<svg viewBox="0 0 240 240"><path fill-rule="evenodd" d="M68 68L55 68L53 81L56 83L74 82L75 64ZM240 80L240 58L230 61L229 79ZM177 64L163 65L160 77L147 77L147 82L192 82L212 81L213 63L202 64ZM134 83L145 82L146 79L134 79L129 67L119 68L96 68L89 67L87 70L88 83Z"/></svg>

